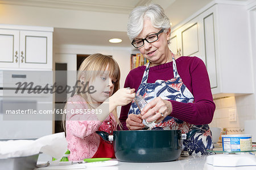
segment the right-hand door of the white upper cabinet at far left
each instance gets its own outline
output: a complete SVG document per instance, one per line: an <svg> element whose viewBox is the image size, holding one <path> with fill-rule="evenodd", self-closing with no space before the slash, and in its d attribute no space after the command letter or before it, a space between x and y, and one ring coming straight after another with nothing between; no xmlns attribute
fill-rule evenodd
<svg viewBox="0 0 256 170"><path fill-rule="evenodd" d="M52 68L52 32L20 31L20 68Z"/></svg>

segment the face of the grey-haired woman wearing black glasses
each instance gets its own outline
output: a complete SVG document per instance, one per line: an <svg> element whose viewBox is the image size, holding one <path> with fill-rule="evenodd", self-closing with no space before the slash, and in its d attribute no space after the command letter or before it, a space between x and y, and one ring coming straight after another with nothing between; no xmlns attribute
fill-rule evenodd
<svg viewBox="0 0 256 170"><path fill-rule="evenodd" d="M159 32L160 28L155 28L151 24L151 20L149 18L144 19L143 30L135 39L144 39L146 36L155 34ZM170 30L167 32L163 32L158 35L158 40L153 43L148 43L144 40L143 47L139 48L139 51L142 53L150 63L154 65L167 63L169 48L167 40L169 39Z"/></svg>

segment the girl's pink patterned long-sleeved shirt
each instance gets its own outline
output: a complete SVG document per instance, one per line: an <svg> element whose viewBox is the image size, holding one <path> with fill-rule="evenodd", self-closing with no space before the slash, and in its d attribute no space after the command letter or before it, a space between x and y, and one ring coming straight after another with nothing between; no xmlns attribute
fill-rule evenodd
<svg viewBox="0 0 256 170"><path fill-rule="evenodd" d="M100 122L96 114L89 114L86 101L75 95L67 101L66 139L68 150L71 151L69 160L83 160L96 154L100 145L100 136L96 131L106 131L113 134L117 127L114 115L110 113L104 122ZM79 114L83 111L84 114Z"/></svg>

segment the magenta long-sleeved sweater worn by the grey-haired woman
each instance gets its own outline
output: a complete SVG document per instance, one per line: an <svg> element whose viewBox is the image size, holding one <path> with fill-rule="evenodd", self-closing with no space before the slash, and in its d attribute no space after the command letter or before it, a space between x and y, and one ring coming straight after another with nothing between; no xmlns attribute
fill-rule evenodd
<svg viewBox="0 0 256 170"><path fill-rule="evenodd" d="M195 103L181 103L170 100L172 103L172 113L170 116L192 125L204 125L212 122L215 104L213 102L212 92L210 90L210 81L204 62L198 57L179 57L176 61L177 72L183 83L195 98ZM135 88L136 91L141 84L142 76L146 67L135 68L127 75L124 87ZM148 72L148 83L154 83L156 80L170 80L174 78L172 71L172 62L150 67ZM122 106L120 121L123 130L126 127L127 114L131 103Z"/></svg>

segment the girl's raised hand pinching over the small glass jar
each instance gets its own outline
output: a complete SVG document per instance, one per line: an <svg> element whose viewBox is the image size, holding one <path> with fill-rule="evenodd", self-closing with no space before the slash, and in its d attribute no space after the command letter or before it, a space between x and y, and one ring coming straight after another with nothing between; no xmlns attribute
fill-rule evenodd
<svg viewBox="0 0 256 170"><path fill-rule="evenodd" d="M135 89L126 89L122 88L117 90L112 96L109 98L109 102L114 103L117 106L125 106L131 101L133 101L135 97Z"/></svg>

